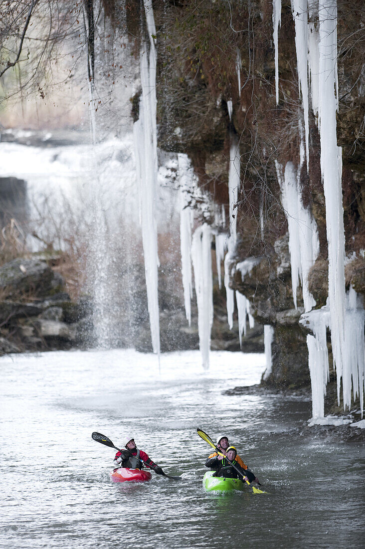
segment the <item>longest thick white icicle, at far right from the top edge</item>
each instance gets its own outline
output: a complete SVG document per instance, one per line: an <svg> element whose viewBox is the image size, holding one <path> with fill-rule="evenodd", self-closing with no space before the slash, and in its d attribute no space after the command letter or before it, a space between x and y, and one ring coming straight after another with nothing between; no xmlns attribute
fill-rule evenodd
<svg viewBox="0 0 365 549"><path fill-rule="evenodd" d="M338 401L344 350L345 238L342 208L341 148L336 141L335 87L337 87L336 0L319 0L319 104L321 172L325 198L328 242L328 296L331 316L333 360L337 374Z"/></svg>

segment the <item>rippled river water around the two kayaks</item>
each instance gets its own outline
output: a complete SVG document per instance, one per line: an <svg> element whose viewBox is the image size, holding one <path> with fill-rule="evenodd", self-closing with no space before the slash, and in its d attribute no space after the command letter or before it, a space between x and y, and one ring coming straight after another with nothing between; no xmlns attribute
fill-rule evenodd
<svg viewBox="0 0 365 549"><path fill-rule="evenodd" d="M306 399L228 396L260 381L263 355L132 350L49 352L0 359L0 547L363 547L360 443L300 429ZM228 433L269 492L205 494L210 447ZM114 484L125 432L177 482Z"/></svg>

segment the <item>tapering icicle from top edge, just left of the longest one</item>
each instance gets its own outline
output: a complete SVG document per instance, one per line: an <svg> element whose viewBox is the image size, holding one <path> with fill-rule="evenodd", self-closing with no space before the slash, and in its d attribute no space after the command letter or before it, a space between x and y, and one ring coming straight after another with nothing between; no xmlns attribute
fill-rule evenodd
<svg viewBox="0 0 365 549"><path fill-rule="evenodd" d="M307 0L291 0L295 23L295 49L298 68L299 93L302 96L305 125L305 150L309 170L309 120L308 120L308 12Z"/></svg>

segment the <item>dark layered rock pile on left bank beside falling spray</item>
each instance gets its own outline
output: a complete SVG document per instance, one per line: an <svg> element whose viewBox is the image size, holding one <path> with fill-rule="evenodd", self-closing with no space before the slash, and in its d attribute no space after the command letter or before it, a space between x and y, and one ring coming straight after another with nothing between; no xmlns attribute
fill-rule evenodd
<svg viewBox="0 0 365 549"><path fill-rule="evenodd" d="M59 257L18 257L0 267L0 355L70 349L87 341L89 302L72 301Z"/></svg>

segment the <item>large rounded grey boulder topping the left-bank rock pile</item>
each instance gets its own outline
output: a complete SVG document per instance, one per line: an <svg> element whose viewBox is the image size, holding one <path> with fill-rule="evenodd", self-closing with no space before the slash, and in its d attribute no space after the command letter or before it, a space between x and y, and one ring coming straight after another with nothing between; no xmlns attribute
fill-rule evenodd
<svg viewBox="0 0 365 549"><path fill-rule="evenodd" d="M0 289L8 296L44 296L52 289L53 271L38 259L18 257L0 267Z"/></svg>

